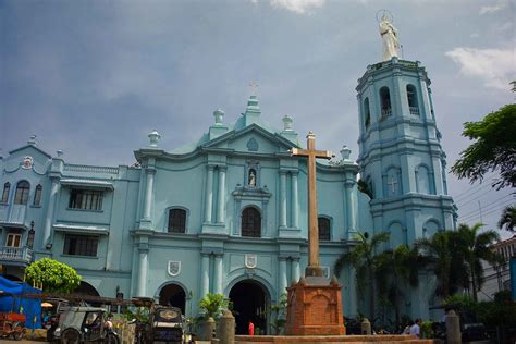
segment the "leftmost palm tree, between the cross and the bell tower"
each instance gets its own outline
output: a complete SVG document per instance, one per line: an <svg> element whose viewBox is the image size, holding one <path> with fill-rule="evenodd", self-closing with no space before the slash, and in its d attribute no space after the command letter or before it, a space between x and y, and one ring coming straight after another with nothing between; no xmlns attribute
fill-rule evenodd
<svg viewBox="0 0 516 344"><path fill-rule="evenodd" d="M376 258L377 247L386 241L389 241L390 234L381 232L373 235L368 239L367 234L364 235L358 233L358 244L354 246L349 251L341 255L334 266L335 275L340 277L344 265L351 263L355 268L355 280L357 284L357 291L360 296L364 296L364 292L369 288L370 304L369 304L369 317L374 318L374 280L376 280L376 268L378 258Z"/></svg>

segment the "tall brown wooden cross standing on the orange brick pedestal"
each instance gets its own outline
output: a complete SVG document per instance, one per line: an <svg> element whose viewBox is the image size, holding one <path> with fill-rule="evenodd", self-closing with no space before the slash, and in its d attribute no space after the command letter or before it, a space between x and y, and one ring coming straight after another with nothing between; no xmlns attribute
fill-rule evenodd
<svg viewBox="0 0 516 344"><path fill-rule="evenodd" d="M316 189L316 159L331 159L333 155L328 150L316 150L316 135L309 132L306 136L307 149L292 148L292 156L308 158L308 266L305 275L321 277L319 265L319 226L317 223L317 189Z"/></svg>

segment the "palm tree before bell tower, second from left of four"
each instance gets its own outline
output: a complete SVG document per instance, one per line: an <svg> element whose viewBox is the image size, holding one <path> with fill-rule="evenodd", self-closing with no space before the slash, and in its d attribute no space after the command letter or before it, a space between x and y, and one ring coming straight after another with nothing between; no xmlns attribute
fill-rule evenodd
<svg viewBox="0 0 516 344"><path fill-rule="evenodd" d="M400 324L403 291L419 284L419 269L427 263L428 258L416 246L410 248L406 244L378 256L377 283L380 294L394 307L396 325Z"/></svg>

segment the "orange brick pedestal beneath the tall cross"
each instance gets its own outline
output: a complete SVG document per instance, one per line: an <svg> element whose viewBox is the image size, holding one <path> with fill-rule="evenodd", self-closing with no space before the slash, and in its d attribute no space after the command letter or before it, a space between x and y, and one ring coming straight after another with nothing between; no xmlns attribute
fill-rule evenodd
<svg viewBox="0 0 516 344"><path fill-rule="evenodd" d="M335 278L302 278L286 288L287 335L344 335L346 328L342 318L341 285Z"/></svg>

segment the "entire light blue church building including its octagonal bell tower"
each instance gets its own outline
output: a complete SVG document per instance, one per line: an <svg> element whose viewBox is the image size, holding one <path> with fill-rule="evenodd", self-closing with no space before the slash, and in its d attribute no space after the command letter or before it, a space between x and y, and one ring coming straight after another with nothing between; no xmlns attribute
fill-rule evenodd
<svg viewBox="0 0 516 344"><path fill-rule="evenodd" d="M328 275L357 231L388 231L386 247L395 247L455 226L425 67L392 58L368 66L356 90L358 160L344 147L317 164ZM83 293L150 296L186 316L205 294L223 293L238 311L238 331L249 319L267 329L269 306L307 265L307 167L288 152L305 135L292 118L282 121L281 130L266 124L251 96L235 123L214 111L194 144L170 150L153 131L132 167L66 163L30 138L0 158L2 274L20 280L30 261L51 257L77 270ZM358 192L358 174L372 199ZM402 312L429 318L434 280L421 278ZM360 302L349 267L341 283L353 317Z"/></svg>

